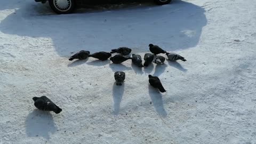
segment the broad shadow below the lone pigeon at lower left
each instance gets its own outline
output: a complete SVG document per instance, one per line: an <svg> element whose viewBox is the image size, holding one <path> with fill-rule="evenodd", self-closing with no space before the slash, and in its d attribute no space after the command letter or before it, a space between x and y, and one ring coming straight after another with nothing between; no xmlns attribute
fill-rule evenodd
<svg viewBox="0 0 256 144"><path fill-rule="evenodd" d="M57 127L49 111L35 109L26 118L26 133L28 137L43 137L50 139L50 133L55 133Z"/></svg>

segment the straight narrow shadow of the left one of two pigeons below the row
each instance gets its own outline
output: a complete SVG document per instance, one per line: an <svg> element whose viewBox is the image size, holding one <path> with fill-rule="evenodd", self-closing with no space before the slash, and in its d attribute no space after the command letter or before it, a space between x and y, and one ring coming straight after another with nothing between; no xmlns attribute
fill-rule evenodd
<svg viewBox="0 0 256 144"><path fill-rule="evenodd" d="M114 115L119 115L120 105L124 94L124 83L123 85L113 84L113 100L114 100Z"/></svg>

